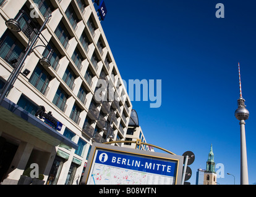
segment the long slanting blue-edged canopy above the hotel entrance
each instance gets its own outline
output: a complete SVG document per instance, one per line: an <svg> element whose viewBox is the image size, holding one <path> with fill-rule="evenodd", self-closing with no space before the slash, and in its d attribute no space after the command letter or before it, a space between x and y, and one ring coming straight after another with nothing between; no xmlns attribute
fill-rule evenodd
<svg viewBox="0 0 256 197"><path fill-rule="evenodd" d="M58 146L60 143L64 143L69 147L78 148L78 145L72 142L72 140L67 139L67 137L49 127L47 124L43 123L43 121L28 113L28 111L23 110L23 108L7 98L4 98L1 103L0 119L54 147Z"/></svg>

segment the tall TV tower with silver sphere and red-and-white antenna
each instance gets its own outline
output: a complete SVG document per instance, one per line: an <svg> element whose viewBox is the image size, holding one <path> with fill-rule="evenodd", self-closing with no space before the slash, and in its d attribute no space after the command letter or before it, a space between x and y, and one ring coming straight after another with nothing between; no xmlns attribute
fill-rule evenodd
<svg viewBox="0 0 256 197"><path fill-rule="evenodd" d="M245 108L245 100L242 98L242 87L241 87L241 74L240 65L238 63L239 69L239 87L240 87L240 97L237 100L238 108L235 111L236 118L240 121L240 133L241 133L241 174L240 174L240 184L249 185L248 180L248 167L247 167L247 152L246 152L246 140L245 140L245 120L249 118L249 111Z"/></svg>

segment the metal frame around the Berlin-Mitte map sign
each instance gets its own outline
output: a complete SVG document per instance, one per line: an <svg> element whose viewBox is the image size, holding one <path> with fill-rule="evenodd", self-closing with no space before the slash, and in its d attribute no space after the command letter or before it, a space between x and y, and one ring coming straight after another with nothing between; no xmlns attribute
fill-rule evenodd
<svg viewBox="0 0 256 197"><path fill-rule="evenodd" d="M92 150L90 153L90 156L88 158L87 167L85 168L85 173L81 181L81 185L85 185L88 182L90 172L93 169L93 161L95 161L95 153L96 150L100 151L108 151L109 153L117 153L124 155L131 155L131 156L137 156L141 158L150 158L155 160L161 160L161 161L168 161L168 162L174 162L176 163L176 172L175 172L175 185L181 185L181 179L182 179L182 166L183 166L183 159L184 156L178 156L178 155L171 155L167 153L158 153L158 152L151 152L151 151L144 151L144 150L135 150L132 148L126 148L126 147L116 147L113 145L107 145L103 143L93 143Z"/></svg>

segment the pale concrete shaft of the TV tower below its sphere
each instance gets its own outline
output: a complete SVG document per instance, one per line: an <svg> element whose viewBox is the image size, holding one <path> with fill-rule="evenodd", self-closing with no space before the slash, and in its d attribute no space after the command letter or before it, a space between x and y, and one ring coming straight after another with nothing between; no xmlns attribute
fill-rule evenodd
<svg viewBox="0 0 256 197"><path fill-rule="evenodd" d="M247 167L247 151L246 151L246 140L245 140L245 121L240 121L240 132L241 132L241 185L249 185L248 179L248 167Z"/></svg>

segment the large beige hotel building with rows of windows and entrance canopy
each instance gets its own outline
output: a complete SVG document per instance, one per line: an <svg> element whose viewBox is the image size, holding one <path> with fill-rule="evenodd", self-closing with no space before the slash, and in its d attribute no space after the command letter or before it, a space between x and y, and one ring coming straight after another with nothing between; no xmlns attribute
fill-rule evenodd
<svg viewBox="0 0 256 197"><path fill-rule="evenodd" d="M2 184L17 184L32 163L45 184L79 184L93 142L126 139L132 103L95 7L92 0L0 0L0 89L51 14L0 106ZM5 23L19 10L21 31L13 32ZM40 59L50 49L45 67Z"/></svg>

